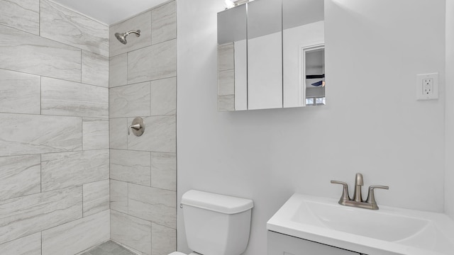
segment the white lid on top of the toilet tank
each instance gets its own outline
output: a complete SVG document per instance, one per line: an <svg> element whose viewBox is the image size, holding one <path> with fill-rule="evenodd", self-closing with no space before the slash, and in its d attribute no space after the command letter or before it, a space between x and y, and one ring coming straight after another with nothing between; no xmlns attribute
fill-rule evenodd
<svg viewBox="0 0 454 255"><path fill-rule="evenodd" d="M254 207L253 200L219 195L204 191L187 191L182 204L226 214L244 212Z"/></svg>

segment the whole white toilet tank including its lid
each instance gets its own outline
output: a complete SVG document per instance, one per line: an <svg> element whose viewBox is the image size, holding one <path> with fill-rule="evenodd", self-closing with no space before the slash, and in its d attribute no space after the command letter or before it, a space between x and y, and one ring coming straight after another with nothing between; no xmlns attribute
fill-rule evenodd
<svg viewBox="0 0 454 255"><path fill-rule="evenodd" d="M204 255L243 254L253 200L192 190L181 203L189 249Z"/></svg>

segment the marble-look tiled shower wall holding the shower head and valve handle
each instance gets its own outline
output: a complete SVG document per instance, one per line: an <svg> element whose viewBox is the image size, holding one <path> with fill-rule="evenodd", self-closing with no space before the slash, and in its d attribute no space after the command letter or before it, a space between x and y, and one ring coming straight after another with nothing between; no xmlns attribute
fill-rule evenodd
<svg viewBox="0 0 454 255"><path fill-rule="evenodd" d="M137 29L126 45L114 37ZM176 247L176 30L175 1L109 28L111 238L143 254Z"/></svg>

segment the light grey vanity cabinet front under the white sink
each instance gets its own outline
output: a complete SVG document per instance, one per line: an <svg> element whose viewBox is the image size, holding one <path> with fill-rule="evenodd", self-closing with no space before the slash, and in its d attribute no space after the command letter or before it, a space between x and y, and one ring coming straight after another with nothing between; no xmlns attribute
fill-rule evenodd
<svg viewBox="0 0 454 255"><path fill-rule="evenodd" d="M358 252L268 231L268 255L360 255Z"/></svg>

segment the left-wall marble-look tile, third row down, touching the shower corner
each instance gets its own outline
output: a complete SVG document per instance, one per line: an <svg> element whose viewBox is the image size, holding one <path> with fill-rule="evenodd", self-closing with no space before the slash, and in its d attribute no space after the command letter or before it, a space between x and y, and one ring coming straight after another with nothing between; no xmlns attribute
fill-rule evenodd
<svg viewBox="0 0 454 255"><path fill-rule="evenodd" d="M41 113L109 118L109 89L43 77Z"/></svg>

